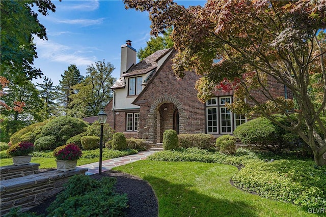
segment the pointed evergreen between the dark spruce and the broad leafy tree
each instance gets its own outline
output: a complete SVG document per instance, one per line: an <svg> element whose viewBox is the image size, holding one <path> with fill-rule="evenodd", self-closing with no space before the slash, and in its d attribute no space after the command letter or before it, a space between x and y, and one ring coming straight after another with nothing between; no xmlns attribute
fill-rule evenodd
<svg viewBox="0 0 326 217"><path fill-rule="evenodd" d="M62 80L59 81L59 91L61 94L61 103L64 105L65 109L69 108L71 103L70 96L75 94L72 89L72 86L79 84L84 80L84 76L80 75L79 69L76 65L70 65L68 70L65 70L65 73L61 75Z"/></svg>

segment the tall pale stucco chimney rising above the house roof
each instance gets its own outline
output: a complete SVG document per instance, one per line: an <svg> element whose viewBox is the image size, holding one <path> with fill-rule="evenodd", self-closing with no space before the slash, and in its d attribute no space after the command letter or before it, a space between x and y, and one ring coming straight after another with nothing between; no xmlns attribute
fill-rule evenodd
<svg viewBox="0 0 326 217"><path fill-rule="evenodd" d="M132 64L136 64L137 51L131 47L131 41L127 40L126 44L121 45L121 68L120 76L125 73Z"/></svg>

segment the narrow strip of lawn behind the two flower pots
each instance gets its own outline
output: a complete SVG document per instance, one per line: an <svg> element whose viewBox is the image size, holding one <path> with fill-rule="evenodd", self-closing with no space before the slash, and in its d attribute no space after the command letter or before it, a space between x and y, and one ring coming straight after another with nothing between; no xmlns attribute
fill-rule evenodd
<svg viewBox="0 0 326 217"><path fill-rule="evenodd" d="M103 158L103 161L107 160L107 158ZM94 162L98 162L98 158L81 158L77 161L77 166L90 164ZM57 168L57 163L55 158L32 158L31 163L39 163L41 166L40 169L48 169L48 168ZM0 166L12 165L12 158L5 158L0 160Z"/></svg>

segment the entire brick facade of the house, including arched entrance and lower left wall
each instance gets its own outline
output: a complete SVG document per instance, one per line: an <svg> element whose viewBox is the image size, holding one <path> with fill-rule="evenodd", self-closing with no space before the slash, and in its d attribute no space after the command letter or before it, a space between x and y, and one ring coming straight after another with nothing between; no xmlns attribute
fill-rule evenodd
<svg viewBox="0 0 326 217"><path fill-rule="evenodd" d="M116 132L124 132L126 138L137 137L153 143L162 142L163 133L168 129L176 130L180 134L207 133L206 105L198 100L195 89L200 76L195 72L186 72L183 79L177 80L172 69L175 52L151 75L150 81L134 100L133 104L140 106L139 110L113 112L113 102L105 107L107 122ZM266 87L271 89L273 97L293 98L291 91L274 78L268 77ZM215 91L213 94L218 97L233 96L233 91ZM259 102L266 101L259 90L252 90L251 95ZM248 103L254 105L253 102ZM126 132L126 113L129 112L139 112L138 132Z"/></svg>

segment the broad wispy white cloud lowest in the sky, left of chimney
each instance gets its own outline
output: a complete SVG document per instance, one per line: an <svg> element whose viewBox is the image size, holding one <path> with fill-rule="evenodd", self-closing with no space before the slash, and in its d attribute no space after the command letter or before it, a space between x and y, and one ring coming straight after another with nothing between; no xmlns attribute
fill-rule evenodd
<svg viewBox="0 0 326 217"><path fill-rule="evenodd" d="M85 55L88 53L83 49L73 48L59 43L51 41L43 41L41 39L35 39L38 57L40 59L46 59L46 61L52 61L57 63L75 64L77 66L88 66L94 63L95 56Z"/></svg>

